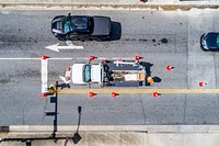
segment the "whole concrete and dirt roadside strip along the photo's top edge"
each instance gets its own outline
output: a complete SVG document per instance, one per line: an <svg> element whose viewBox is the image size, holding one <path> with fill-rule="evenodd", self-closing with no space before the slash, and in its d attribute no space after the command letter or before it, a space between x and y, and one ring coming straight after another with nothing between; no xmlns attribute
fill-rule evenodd
<svg viewBox="0 0 219 146"><path fill-rule="evenodd" d="M218 9L219 1L180 0L0 0L0 9L15 10L137 10L157 9L164 11Z"/></svg>

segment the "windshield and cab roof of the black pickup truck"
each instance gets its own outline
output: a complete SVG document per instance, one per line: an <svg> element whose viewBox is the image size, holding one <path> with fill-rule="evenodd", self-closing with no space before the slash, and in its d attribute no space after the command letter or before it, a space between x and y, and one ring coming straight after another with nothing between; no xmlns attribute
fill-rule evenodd
<svg viewBox="0 0 219 146"><path fill-rule="evenodd" d="M64 33L90 32L91 19L89 16L66 16L64 20Z"/></svg>

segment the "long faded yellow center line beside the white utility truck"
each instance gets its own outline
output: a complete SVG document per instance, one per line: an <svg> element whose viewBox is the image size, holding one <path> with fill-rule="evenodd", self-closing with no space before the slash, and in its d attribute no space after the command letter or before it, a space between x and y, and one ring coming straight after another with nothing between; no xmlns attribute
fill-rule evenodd
<svg viewBox="0 0 219 146"><path fill-rule="evenodd" d="M135 89L135 88L123 88L123 89L64 89L57 90L58 93L219 93L219 89Z"/></svg>

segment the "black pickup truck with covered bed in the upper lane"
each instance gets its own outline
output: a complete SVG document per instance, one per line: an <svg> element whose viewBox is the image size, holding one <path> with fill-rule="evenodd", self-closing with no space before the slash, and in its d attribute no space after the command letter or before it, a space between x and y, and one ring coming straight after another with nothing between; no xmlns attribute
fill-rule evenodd
<svg viewBox="0 0 219 146"><path fill-rule="evenodd" d="M108 16L58 15L51 21L51 32L60 41L107 41L112 34Z"/></svg>

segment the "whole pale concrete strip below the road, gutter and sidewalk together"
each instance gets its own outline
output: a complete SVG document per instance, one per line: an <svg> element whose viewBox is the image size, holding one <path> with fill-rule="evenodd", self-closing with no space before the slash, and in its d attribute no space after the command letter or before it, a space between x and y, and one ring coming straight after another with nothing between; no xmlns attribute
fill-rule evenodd
<svg viewBox="0 0 219 146"><path fill-rule="evenodd" d="M7 130L4 127L4 130ZM55 138L53 126L14 125L0 132L1 146L74 145L77 126L58 126ZM79 146L218 146L218 125L81 125ZM12 141L10 141L12 139ZM56 143L55 143L55 142ZM23 143L22 143L23 142Z"/></svg>

